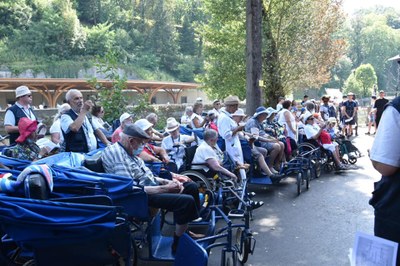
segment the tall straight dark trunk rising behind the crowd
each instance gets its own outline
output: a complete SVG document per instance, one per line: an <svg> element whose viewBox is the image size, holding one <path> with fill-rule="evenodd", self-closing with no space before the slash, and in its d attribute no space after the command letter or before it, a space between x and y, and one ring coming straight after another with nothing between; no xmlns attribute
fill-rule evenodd
<svg viewBox="0 0 400 266"><path fill-rule="evenodd" d="M247 0L246 5L246 113L254 114L262 104L259 86L262 74L261 0Z"/></svg>

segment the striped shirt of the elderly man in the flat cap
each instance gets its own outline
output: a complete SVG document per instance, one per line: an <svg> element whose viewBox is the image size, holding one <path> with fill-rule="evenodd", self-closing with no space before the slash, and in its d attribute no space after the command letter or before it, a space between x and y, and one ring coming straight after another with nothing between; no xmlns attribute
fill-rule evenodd
<svg viewBox="0 0 400 266"><path fill-rule="evenodd" d="M129 176L139 180L142 186L158 186L158 182L144 161L137 156L129 155L119 143L108 146L101 155L106 173Z"/></svg>

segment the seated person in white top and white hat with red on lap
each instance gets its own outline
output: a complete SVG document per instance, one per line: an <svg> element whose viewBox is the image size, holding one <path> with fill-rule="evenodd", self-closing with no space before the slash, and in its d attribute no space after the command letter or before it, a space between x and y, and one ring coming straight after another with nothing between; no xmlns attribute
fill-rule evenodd
<svg viewBox="0 0 400 266"><path fill-rule="evenodd" d="M337 170L347 170L347 168L340 162L339 145L336 142L332 142L331 136L325 130L326 125L321 122L319 125L315 123L315 117L311 113L305 113L303 117L304 133L308 140L312 140L311 143L321 145L322 148L332 153L333 160L335 162Z"/></svg>

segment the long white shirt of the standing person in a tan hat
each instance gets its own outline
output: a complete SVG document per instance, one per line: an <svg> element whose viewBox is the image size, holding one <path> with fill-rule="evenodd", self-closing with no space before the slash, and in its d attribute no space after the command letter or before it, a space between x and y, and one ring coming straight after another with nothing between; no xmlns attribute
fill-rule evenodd
<svg viewBox="0 0 400 266"><path fill-rule="evenodd" d="M232 131L238 124L232 119L232 115L222 110L217 121L218 133L225 140L226 152L234 162L244 163L242 146L238 134L232 135Z"/></svg>

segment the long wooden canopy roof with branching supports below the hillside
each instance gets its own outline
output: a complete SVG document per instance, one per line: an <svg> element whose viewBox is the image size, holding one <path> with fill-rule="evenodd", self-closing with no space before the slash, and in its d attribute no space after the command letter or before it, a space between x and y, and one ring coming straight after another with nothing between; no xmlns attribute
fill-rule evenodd
<svg viewBox="0 0 400 266"><path fill-rule="evenodd" d="M112 81L98 79L103 86L111 87ZM53 78L0 78L0 92L14 91L18 86L26 85L32 91L40 93L48 101L49 107L56 107L58 98L69 89L96 91L85 79L53 79ZM128 80L126 90L140 94L149 93L150 102L154 95L163 90L171 95L174 103L178 103L179 94L186 89L197 89L200 84L185 82L162 82L146 80Z"/></svg>

